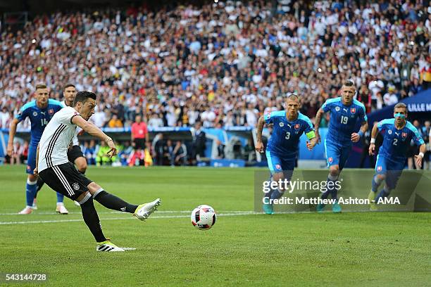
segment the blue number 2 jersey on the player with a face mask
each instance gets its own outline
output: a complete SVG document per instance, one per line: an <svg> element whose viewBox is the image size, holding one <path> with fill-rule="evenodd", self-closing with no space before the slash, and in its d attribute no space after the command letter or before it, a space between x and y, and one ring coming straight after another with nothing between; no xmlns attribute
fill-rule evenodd
<svg viewBox="0 0 431 287"><path fill-rule="evenodd" d="M405 127L396 129L395 119L382 120L377 124L377 129L383 136L379 155L394 161L406 160L407 149L412 139L418 146L425 143L418 129L408 121Z"/></svg>

